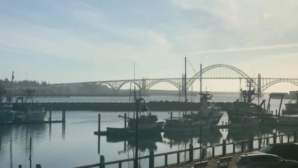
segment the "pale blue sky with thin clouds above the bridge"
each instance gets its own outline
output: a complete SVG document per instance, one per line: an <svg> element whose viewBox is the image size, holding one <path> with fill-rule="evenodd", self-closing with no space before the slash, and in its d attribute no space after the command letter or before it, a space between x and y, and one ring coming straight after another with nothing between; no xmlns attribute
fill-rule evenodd
<svg viewBox="0 0 298 168"><path fill-rule="evenodd" d="M298 78L297 8L297 0L0 0L0 79L12 71L51 84L133 79L134 62L137 79L179 78L184 56L196 71L228 64L250 77Z"/></svg>

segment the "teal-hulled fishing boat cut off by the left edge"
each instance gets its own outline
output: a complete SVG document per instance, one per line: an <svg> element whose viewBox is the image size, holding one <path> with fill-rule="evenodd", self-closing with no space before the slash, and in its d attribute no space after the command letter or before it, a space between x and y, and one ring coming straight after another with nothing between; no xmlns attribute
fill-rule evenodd
<svg viewBox="0 0 298 168"><path fill-rule="evenodd" d="M2 94L4 93L4 89L0 83L0 122L12 122L15 118L15 112L12 111L11 104L3 103Z"/></svg>

